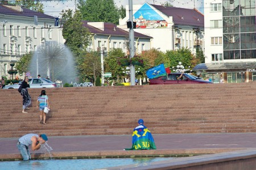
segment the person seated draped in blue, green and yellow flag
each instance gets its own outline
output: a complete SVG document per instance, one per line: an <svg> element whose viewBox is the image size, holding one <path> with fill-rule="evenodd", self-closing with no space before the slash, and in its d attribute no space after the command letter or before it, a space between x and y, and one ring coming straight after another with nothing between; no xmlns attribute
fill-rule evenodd
<svg viewBox="0 0 256 170"><path fill-rule="evenodd" d="M138 121L139 126L133 130L133 146L131 148L125 148L125 150L155 150L154 138L150 130L144 126L143 119Z"/></svg>

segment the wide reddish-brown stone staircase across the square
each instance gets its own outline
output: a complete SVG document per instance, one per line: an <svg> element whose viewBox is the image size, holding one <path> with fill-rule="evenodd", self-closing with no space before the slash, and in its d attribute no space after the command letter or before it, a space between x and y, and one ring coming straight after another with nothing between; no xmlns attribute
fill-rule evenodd
<svg viewBox="0 0 256 170"><path fill-rule="evenodd" d="M139 118L153 134L256 132L256 83L47 88L46 125L36 109L41 90L28 90L28 113L18 90L0 90L1 138L131 134Z"/></svg>

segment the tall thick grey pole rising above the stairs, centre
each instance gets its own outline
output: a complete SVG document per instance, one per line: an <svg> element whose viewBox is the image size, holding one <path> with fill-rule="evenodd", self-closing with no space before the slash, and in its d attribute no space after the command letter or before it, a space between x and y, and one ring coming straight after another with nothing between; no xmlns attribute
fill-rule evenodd
<svg viewBox="0 0 256 170"><path fill-rule="evenodd" d="M129 30L129 48L130 48L130 59L134 57L134 30L133 30L133 0L129 0L129 20L131 27ZM130 83L131 86L135 86L135 66L131 63L130 66Z"/></svg>

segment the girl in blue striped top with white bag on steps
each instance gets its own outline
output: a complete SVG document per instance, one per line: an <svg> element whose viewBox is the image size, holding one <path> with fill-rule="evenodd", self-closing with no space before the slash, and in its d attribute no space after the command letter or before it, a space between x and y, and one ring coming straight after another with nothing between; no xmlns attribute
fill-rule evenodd
<svg viewBox="0 0 256 170"><path fill-rule="evenodd" d="M38 106L39 103L39 106ZM36 108L40 111L40 124L46 125L46 113L44 113L44 108L49 108L49 100L48 96L46 95L46 91L42 90L41 95L38 96L38 100L36 101Z"/></svg>

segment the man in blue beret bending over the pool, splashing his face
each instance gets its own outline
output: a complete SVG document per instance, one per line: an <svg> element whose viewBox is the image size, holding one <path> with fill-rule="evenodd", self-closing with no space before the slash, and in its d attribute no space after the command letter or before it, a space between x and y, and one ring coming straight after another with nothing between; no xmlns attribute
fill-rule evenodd
<svg viewBox="0 0 256 170"><path fill-rule="evenodd" d="M19 138L17 143L17 147L22 154L23 160L31 159L30 151L28 150L28 146L31 145L32 151L39 150L41 145L48 141L46 134L26 134L23 137Z"/></svg>

